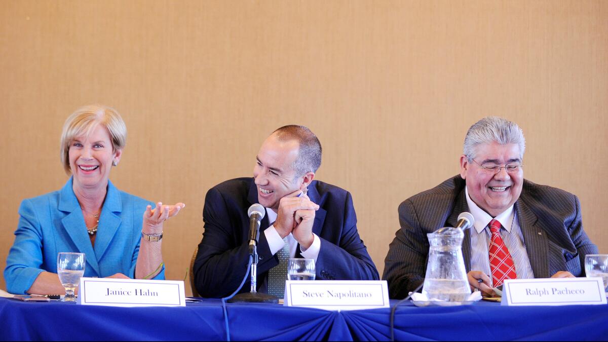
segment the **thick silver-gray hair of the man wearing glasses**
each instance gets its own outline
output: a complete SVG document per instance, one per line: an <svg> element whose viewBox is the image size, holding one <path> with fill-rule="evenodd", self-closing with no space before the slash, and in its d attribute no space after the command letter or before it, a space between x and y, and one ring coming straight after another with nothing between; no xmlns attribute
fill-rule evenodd
<svg viewBox="0 0 608 342"><path fill-rule="evenodd" d="M512 121L497 116L488 116L475 122L466 132L463 153L471 161L475 158L475 147L480 144L491 144L498 142L500 145L517 144L522 153L526 149L526 139L523 138L523 131Z"/></svg>

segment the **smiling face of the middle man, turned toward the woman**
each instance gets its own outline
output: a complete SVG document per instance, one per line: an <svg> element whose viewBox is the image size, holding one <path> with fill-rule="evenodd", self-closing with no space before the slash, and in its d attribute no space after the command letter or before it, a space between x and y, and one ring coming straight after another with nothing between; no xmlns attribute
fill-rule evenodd
<svg viewBox="0 0 608 342"><path fill-rule="evenodd" d="M296 190L303 190L313 180L314 173L297 176L293 169L300 145L296 140L281 141L269 136L257 155L254 166L258 201L265 208L278 209L281 198Z"/></svg>

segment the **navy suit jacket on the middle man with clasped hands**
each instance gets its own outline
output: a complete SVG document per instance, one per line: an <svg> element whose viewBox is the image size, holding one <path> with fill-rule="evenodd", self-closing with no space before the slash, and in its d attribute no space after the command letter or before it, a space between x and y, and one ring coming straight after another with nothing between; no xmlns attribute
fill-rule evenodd
<svg viewBox="0 0 608 342"><path fill-rule="evenodd" d="M353 199L346 190L313 181L308 197L319 204L313 232L321 240L316 262L316 279L378 280L378 271L357 232ZM218 184L207 192L203 220L205 231L194 263L196 290L203 297L219 298L237 290L247 271L249 260L249 217L247 209L258 203L253 178L236 178ZM258 290L266 291L268 270L278 265L271 254L264 229L268 216L260 224L257 267ZM299 246L296 251L299 251ZM299 253L296 254L296 257ZM247 281L240 292L249 292Z"/></svg>

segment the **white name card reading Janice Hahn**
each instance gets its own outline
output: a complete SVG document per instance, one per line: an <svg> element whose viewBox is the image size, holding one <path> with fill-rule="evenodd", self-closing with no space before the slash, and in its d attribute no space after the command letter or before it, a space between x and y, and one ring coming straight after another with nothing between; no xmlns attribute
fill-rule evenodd
<svg viewBox="0 0 608 342"><path fill-rule="evenodd" d="M106 306L185 306L183 281L80 278L78 304Z"/></svg>

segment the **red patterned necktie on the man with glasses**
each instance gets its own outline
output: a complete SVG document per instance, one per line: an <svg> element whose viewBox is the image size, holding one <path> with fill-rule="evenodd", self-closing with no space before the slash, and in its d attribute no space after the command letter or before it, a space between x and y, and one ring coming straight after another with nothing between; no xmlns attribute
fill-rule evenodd
<svg viewBox="0 0 608 342"><path fill-rule="evenodd" d="M516 279L515 264L509 250L505 246L505 242L500 237L500 222L491 220L490 231L492 238L490 240L490 269L492 271L492 284L494 287L502 285L505 279Z"/></svg>

